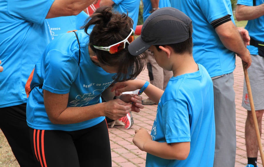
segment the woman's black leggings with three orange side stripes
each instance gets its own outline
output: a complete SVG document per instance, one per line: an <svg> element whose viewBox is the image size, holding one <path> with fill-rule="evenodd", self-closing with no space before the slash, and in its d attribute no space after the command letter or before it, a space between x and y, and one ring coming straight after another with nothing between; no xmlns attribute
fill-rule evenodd
<svg viewBox="0 0 264 167"><path fill-rule="evenodd" d="M78 131L30 128L35 158L42 167L111 166L106 121Z"/></svg>

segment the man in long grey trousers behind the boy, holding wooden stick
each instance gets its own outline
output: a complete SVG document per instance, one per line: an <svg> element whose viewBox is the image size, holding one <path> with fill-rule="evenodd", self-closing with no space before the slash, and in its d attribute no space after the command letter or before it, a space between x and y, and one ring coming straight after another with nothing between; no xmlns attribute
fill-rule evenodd
<svg viewBox="0 0 264 167"><path fill-rule="evenodd" d="M236 107L233 71L236 54L251 65L251 57L234 24L229 0L171 0L193 21L193 55L214 84L216 145L214 167L234 166L236 158Z"/></svg>

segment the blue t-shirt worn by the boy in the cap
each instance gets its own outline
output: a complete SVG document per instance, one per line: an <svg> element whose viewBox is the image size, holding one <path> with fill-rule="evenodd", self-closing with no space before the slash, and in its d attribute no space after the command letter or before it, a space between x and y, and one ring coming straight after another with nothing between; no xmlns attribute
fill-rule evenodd
<svg viewBox="0 0 264 167"><path fill-rule="evenodd" d="M213 82L206 69L172 77L160 98L151 136L154 141L190 142L185 160L147 153L148 167L213 166L215 148ZM177 151L177 150L175 150Z"/></svg>

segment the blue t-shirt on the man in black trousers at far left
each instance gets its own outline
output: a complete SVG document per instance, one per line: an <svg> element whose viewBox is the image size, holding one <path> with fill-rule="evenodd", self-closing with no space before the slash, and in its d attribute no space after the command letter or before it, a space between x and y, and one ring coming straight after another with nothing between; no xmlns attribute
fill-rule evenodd
<svg viewBox="0 0 264 167"><path fill-rule="evenodd" d="M0 1L0 108L27 102L26 81L52 39L45 17L53 1Z"/></svg>

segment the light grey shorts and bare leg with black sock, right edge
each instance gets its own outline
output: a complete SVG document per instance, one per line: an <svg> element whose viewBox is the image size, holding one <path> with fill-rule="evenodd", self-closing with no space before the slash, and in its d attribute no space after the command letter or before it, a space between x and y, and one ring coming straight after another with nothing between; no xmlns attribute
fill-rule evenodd
<svg viewBox="0 0 264 167"><path fill-rule="evenodd" d="M252 64L247 69L250 81L252 97L257 116L259 131L261 135L261 121L264 112L264 58L259 55L251 55ZM247 119L245 124L245 139L248 164L257 166L258 158L258 140L256 136L253 115L249 103L246 81L244 80L242 106L247 110Z"/></svg>

